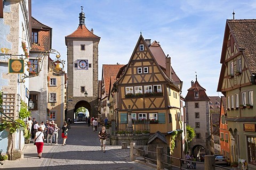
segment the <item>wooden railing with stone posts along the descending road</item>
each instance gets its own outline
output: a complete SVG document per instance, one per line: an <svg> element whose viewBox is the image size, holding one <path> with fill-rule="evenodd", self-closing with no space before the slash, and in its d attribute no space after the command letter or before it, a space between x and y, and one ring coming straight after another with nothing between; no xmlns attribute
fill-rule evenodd
<svg viewBox="0 0 256 170"><path fill-rule="evenodd" d="M151 162L156 163L157 169L164 169L166 166L169 166L171 168L175 167L176 169L177 168L178 169L187 169L187 168L182 167L182 163L185 162L186 164L189 164L187 166L191 166L193 163L204 164L205 170L215 170L216 167L221 168L221 169L229 169L230 170L230 168L215 165L215 156L213 156L213 155L205 155L205 162L201 163L201 162L195 162L192 160L185 160L185 159L176 158L176 157L166 155L166 154L164 154L163 147L157 147L156 152L153 152L153 151L147 151L147 150L135 148L135 143L130 143L130 146L131 146L131 148L130 148L131 161L134 161L136 159L136 157L143 158L145 163L147 163L146 160L151 160ZM142 156L136 154L138 152L142 153ZM146 155L147 155L146 152L148 152L150 154L155 154L156 159L151 159L151 158L146 157ZM166 161L167 159L171 159L171 161L178 160L180 166L175 166L173 164L167 163L167 161Z"/></svg>

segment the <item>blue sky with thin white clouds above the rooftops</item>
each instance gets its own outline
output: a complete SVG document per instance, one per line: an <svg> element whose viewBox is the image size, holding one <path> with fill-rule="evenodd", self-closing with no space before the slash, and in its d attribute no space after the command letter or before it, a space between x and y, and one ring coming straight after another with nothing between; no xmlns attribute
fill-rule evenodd
<svg viewBox="0 0 256 170"><path fill-rule="evenodd" d="M33 0L32 16L52 28L52 48L67 61L65 36L79 24L83 6L87 29L101 37L99 43L99 80L102 64L127 64L140 33L156 40L181 81L186 97L196 75L208 96L217 92L221 69L220 56L227 19L255 19L252 0ZM67 68L67 67L66 67Z"/></svg>

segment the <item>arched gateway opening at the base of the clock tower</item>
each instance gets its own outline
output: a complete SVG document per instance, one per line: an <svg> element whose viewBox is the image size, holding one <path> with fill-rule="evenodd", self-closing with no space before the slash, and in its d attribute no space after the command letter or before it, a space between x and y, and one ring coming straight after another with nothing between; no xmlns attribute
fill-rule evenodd
<svg viewBox="0 0 256 170"><path fill-rule="evenodd" d="M76 122L86 122L86 117L91 116L91 105L85 101L85 100L81 100L78 101L74 107L74 114L73 114L73 118L74 120L76 120ZM84 113L84 115L82 116L82 113Z"/></svg>

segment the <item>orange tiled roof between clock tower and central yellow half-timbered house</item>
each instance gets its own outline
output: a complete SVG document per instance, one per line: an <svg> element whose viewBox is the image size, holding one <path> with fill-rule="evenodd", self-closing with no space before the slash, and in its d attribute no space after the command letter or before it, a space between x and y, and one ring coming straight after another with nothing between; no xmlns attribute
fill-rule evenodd
<svg viewBox="0 0 256 170"><path fill-rule="evenodd" d="M116 77L119 69L123 67L123 64L103 64L102 65L102 80L105 84L106 96L108 96L110 88L110 77Z"/></svg>

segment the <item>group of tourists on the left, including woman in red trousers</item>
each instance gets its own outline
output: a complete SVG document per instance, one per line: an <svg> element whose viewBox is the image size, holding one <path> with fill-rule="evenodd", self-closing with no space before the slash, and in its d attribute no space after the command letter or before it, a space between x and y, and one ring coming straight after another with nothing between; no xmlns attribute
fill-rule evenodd
<svg viewBox="0 0 256 170"><path fill-rule="evenodd" d="M63 138L62 146L66 145L66 140L68 137L67 125L68 124L64 122L61 128L61 137ZM29 133L31 133L31 138L34 139L34 145L36 145L37 148L38 158L42 157L44 139L46 139L46 145L52 145L53 141L55 141L55 145L58 145L58 131L60 130L60 128L56 123L54 123L53 120L46 120L45 124L42 121L41 124L38 125L38 122L35 118L33 118L32 121L31 117L29 117L27 121L27 129Z"/></svg>

